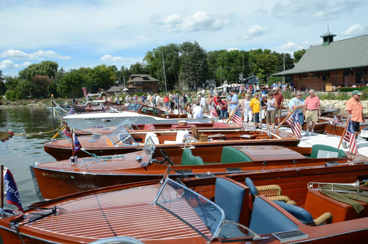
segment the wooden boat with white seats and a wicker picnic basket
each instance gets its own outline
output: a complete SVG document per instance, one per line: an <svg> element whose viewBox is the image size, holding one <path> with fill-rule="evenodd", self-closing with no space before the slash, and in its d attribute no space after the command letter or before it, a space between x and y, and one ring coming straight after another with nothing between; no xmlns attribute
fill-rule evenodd
<svg viewBox="0 0 368 244"><path fill-rule="evenodd" d="M193 130L197 128L192 127ZM123 154L136 151L151 136L156 146L160 149L175 149L182 147L218 147L226 145L279 145L297 146L299 139L293 135L277 131L267 134L265 130L199 130L198 135L192 135L188 130L153 130L150 132L134 131L128 132L120 127L108 135L79 136L78 140L83 150L77 151L78 157L88 157L93 153L98 156ZM197 138L193 138L197 137ZM72 144L70 139L52 139L44 144L46 153L56 160L64 160L72 155ZM86 153L87 151L88 153Z"/></svg>

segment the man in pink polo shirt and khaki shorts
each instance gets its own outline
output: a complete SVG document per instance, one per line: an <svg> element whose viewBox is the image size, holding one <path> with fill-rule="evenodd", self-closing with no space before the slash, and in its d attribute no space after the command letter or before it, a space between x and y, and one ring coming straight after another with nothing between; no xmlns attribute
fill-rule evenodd
<svg viewBox="0 0 368 244"><path fill-rule="evenodd" d="M314 136L313 130L315 122L318 122L318 116L321 116L321 103L319 102L319 98L314 95L314 90L309 90L309 97L307 97L305 100L305 106L303 110L303 113L305 114L305 120L307 121L307 132L305 132L305 135L309 135L309 124L312 121L311 136Z"/></svg>

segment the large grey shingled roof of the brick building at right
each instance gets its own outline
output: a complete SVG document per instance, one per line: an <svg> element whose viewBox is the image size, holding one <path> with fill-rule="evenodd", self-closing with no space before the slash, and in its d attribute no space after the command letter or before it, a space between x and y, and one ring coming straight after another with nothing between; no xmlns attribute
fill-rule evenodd
<svg viewBox="0 0 368 244"><path fill-rule="evenodd" d="M368 35L310 46L295 67L272 74L282 76L368 66Z"/></svg>

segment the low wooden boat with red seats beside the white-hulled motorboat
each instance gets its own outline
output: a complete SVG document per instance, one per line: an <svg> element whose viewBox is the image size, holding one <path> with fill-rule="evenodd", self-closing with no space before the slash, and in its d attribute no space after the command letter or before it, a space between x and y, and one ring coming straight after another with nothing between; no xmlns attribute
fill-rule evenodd
<svg viewBox="0 0 368 244"><path fill-rule="evenodd" d="M221 122L215 122L215 123L187 123L187 125L179 125L176 124L144 124L144 125L135 125L130 119L124 119L120 124L115 126L95 126L93 128L85 128L83 130L75 130L75 134L77 136L86 136L86 135L93 135L94 133L98 133L100 135L109 134L113 132L114 130L120 128L120 126L125 126L125 128L128 129L128 131L135 131L135 130L158 130L158 131L164 131L164 130L190 130L192 126L195 126L199 130L240 130L240 126L234 123L221 123ZM246 129L251 129L251 126L247 126ZM70 131L70 129L68 130Z"/></svg>

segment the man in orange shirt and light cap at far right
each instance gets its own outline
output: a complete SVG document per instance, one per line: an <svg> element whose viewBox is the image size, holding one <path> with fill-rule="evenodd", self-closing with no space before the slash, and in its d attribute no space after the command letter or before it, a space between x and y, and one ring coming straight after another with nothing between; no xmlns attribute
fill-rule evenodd
<svg viewBox="0 0 368 244"><path fill-rule="evenodd" d="M346 102L346 115L347 118L351 115L351 123L353 125L355 137L358 136L358 133L360 132L360 122L364 122L363 105L360 102L360 95L362 95L360 91L354 90L353 97Z"/></svg>

